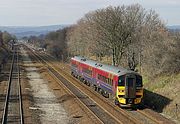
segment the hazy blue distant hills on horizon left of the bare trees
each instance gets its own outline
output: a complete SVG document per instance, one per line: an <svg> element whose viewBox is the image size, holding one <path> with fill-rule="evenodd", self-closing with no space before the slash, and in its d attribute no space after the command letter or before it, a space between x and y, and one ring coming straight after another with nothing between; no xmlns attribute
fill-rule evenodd
<svg viewBox="0 0 180 124"><path fill-rule="evenodd" d="M17 38L24 36L39 36L41 34L47 34L50 31L56 31L62 29L68 25L49 25L49 26L0 26L1 31L7 31L11 34L16 35Z"/></svg>

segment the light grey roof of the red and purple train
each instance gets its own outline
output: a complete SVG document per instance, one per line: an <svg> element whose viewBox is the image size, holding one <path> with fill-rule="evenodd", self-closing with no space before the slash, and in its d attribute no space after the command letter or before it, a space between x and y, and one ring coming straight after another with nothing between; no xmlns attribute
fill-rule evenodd
<svg viewBox="0 0 180 124"><path fill-rule="evenodd" d="M79 61L81 63L87 64L89 66L98 68L100 70L110 72L110 73L118 75L118 76L124 75L126 73L133 73L133 74L139 75L137 72L134 72L134 71L122 68L122 67L115 67L115 66L112 66L112 65L102 64L100 62L90 60L90 59L87 59L87 58L81 57L81 56L75 56L72 59L76 60L76 61Z"/></svg>

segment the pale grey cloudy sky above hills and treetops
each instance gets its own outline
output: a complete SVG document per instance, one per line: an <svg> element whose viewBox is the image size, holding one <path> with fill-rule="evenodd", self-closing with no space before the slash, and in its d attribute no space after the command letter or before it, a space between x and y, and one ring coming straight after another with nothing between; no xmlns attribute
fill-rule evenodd
<svg viewBox="0 0 180 124"><path fill-rule="evenodd" d="M74 24L89 11L139 3L167 25L180 25L180 0L0 0L0 26Z"/></svg>

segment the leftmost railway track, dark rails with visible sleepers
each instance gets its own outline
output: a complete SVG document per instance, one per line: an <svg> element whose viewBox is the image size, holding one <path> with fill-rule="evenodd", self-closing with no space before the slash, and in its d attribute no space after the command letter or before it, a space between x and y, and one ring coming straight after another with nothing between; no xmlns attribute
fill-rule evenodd
<svg viewBox="0 0 180 124"><path fill-rule="evenodd" d="M2 124L24 124L18 51L14 48L9 80L4 102Z"/></svg>

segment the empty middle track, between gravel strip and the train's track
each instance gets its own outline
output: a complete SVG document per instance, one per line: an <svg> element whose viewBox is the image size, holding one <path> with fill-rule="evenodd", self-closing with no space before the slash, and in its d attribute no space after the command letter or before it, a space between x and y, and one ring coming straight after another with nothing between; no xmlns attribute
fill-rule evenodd
<svg viewBox="0 0 180 124"><path fill-rule="evenodd" d="M32 51L31 51L32 52ZM86 107L91 114L96 118L96 120L99 121L99 123L104 123L104 124L122 124L121 121L112 118L107 114L104 110L101 109L101 107L97 106L94 101L92 101L87 95L85 95L83 92L81 92L78 88L76 88L74 85L72 85L69 81L67 81L64 77L62 77L56 70L54 70L53 67L47 65L47 62L43 60L40 56L37 54L33 53L36 58L46 65L47 69L53 76L58 79L60 82L63 83L65 87L69 89L69 91L76 96L76 98L81 102L81 104Z"/></svg>

